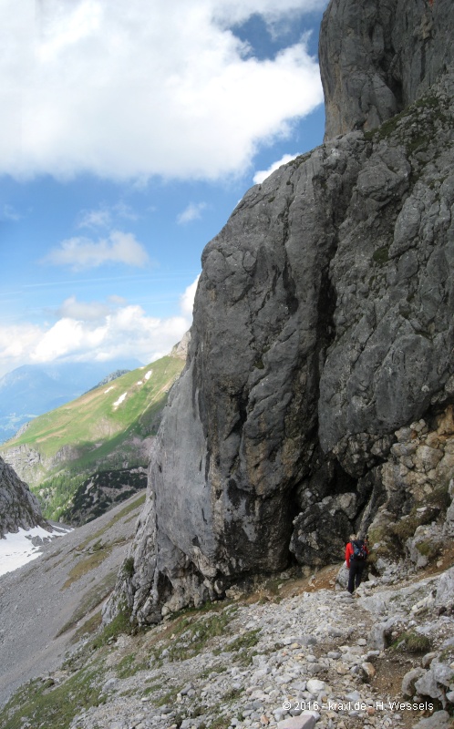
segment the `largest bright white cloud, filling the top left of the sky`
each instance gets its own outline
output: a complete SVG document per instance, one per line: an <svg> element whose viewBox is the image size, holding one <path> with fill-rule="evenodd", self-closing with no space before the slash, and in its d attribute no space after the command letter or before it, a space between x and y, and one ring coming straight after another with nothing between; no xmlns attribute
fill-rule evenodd
<svg viewBox="0 0 454 729"><path fill-rule="evenodd" d="M259 61L233 35L327 0L0 4L0 174L146 180L242 171L322 101L307 39Z"/></svg>

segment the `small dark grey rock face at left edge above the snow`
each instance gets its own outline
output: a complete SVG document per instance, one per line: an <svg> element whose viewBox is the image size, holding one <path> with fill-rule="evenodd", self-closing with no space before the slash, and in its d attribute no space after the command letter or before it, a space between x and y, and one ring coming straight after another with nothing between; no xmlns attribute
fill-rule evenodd
<svg viewBox="0 0 454 729"><path fill-rule="evenodd" d="M18 529L46 526L37 498L0 458L0 538Z"/></svg>

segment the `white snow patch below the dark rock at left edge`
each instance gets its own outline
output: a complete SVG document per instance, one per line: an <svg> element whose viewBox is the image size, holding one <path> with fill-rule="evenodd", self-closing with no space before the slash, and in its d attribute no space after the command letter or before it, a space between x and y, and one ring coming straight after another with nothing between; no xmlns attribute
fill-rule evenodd
<svg viewBox="0 0 454 729"><path fill-rule="evenodd" d="M31 560L36 560L46 541L64 537L67 532L72 530L57 527L52 531L47 531L42 527L34 527L28 530L19 529L16 533L8 532L4 539L0 539L0 576L23 567Z"/></svg>

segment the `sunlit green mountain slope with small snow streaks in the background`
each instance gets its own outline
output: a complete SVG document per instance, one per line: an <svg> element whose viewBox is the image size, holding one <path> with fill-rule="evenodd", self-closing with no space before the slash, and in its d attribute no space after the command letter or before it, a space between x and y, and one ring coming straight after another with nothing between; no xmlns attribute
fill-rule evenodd
<svg viewBox="0 0 454 729"><path fill-rule="evenodd" d="M151 437L183 366L178 357L162 357L36 417L1 447L48 519L67 518L74 494L93 474L147 467Z"/></svg>

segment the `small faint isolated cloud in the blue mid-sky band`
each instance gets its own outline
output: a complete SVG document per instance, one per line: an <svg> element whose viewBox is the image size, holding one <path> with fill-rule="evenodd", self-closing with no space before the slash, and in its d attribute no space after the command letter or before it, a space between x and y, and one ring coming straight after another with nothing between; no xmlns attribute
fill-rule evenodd
<svg viewBox="0 0 454 729"><path fill-rule="evenodd" d="M82 271L97 268L104 263L126 263L129 266L142 267L149 262L149 256L132 233L111 231L108 239L99 241L82 236L68 238L60 243L59 248L49 252L43 262Z"/></svg>

